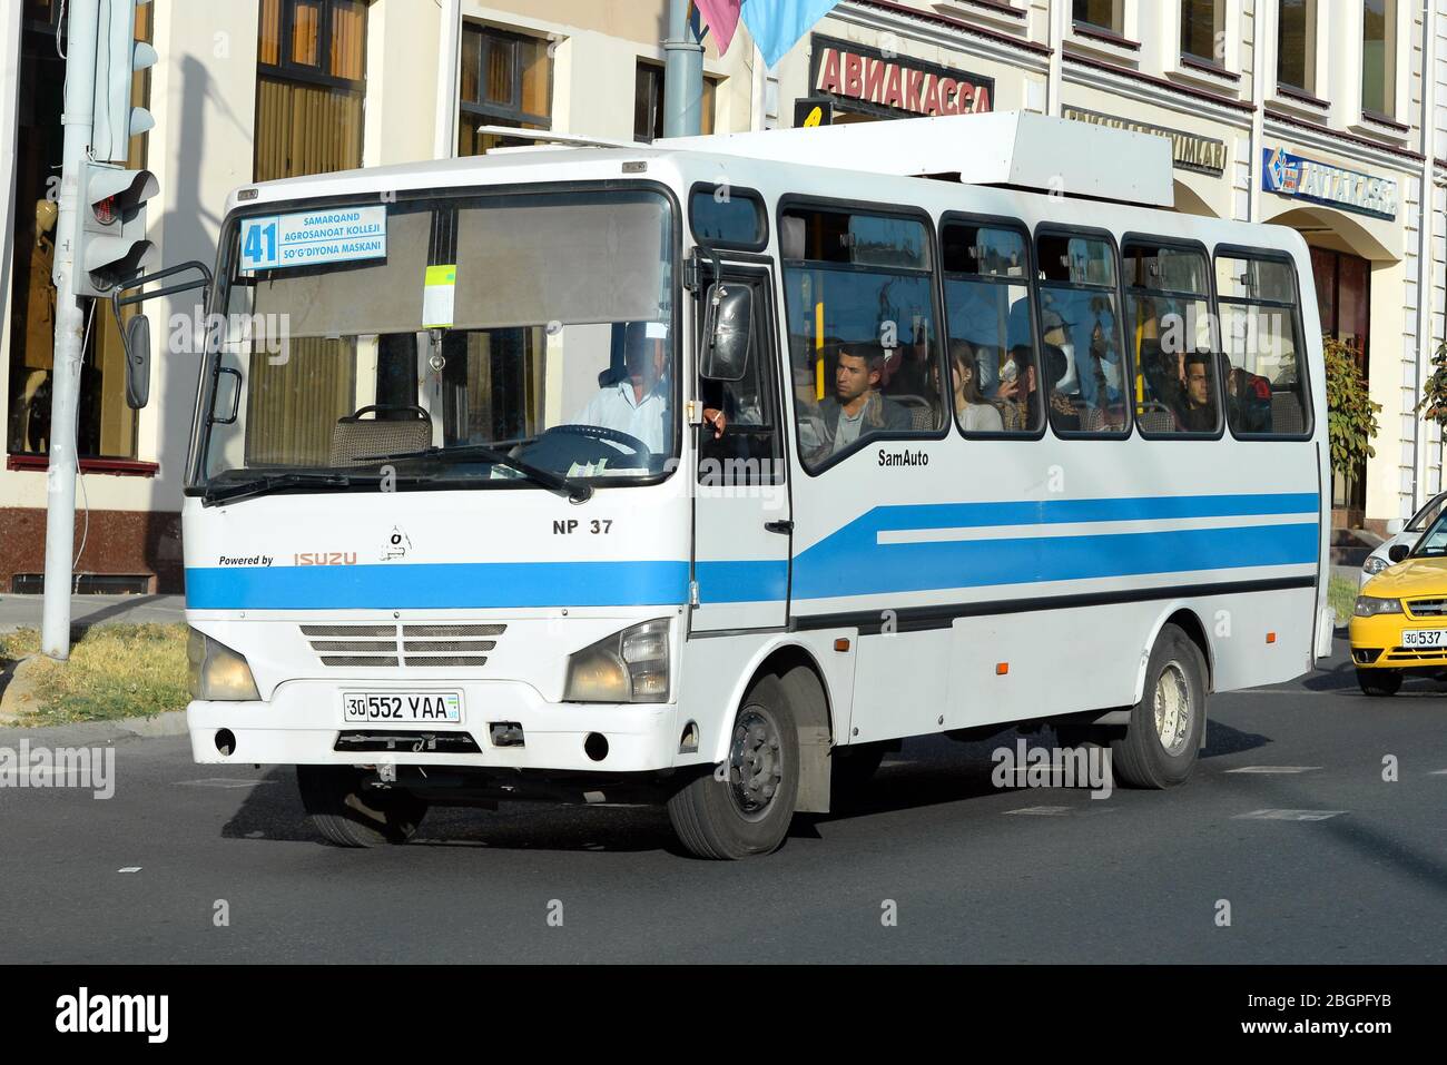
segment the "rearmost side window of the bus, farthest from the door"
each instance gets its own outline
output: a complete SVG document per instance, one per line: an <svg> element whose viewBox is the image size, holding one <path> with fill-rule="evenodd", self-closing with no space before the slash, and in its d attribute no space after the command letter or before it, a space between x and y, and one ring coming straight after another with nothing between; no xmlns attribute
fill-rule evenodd
<svg viewBox="0 0 1447 1065"><path fill-rule="evenodd" d="M1231 431L1310 436L1311 394L1291 260L1266 252L1217 255L1215 291L1229 362L1226 417Z"/></svg>

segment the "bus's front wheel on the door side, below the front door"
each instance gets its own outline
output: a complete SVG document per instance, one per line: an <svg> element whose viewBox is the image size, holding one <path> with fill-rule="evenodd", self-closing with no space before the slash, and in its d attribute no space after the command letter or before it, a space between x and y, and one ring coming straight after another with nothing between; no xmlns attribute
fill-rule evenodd
<svg viewBox="0 0 1447 1065"><path fill-rule="evenodd" d="M799 734L784 684L770 674L734 715L726 761L673 793L669 820L699 858L748 858L784 842L797 796Z"/></svg>

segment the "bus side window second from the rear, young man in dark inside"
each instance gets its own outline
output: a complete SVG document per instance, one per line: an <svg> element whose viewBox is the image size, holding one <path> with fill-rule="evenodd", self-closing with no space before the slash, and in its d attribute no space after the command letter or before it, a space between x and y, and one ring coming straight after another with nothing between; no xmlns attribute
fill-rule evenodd
<svg viewBox="0 0 1447 1065"><path fill-rule="evenodd" d="M1205 250L1127 240L1121 262L1140 436L1215 436L1221 359Z"/></svg>

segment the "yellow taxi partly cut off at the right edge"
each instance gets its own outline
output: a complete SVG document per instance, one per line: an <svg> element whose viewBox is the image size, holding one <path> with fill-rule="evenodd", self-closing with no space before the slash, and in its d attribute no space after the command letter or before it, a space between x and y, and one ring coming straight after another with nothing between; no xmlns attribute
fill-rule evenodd
<svg viewBox="0 0 1447 1065"><path fill-rule="evenodd" d="M1366 695L1396 695L1408 673L1447 670L1447 521L1372 577L1351 612L1351 661Z"/></svg>

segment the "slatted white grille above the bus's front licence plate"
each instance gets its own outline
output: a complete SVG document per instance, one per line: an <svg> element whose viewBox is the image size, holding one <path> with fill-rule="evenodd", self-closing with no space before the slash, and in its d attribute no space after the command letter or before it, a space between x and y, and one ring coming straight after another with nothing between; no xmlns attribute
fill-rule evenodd
<svg viewBox="0 0 1447 1065"><path fill-rule="evenodd" d="M323 666L334 669L453 667L488 664L506 625L302 625Z"/></svg>

